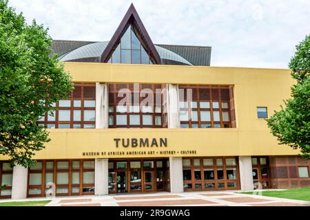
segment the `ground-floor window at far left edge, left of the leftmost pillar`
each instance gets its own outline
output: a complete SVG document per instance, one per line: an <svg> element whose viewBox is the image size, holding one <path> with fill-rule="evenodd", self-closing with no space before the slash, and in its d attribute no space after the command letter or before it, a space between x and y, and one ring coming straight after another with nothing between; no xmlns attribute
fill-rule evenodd
<svg viewBox="0 0 310 220"><path fill-rule="evenodd" d="M12 195L13 168L9 162L0 162L0 186L6 186L0 190L0 198L10 198Z"/></svg>

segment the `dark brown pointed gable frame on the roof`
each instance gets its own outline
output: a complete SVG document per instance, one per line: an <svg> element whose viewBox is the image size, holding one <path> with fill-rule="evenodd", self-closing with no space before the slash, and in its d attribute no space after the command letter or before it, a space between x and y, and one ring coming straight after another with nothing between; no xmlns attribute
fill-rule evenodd
<svg viewBox="0 0 310 220"><path fill-rule="evenodd" d="M147 54L149 54L149 57L152 59L152 61L155 64L161 64L161 57L159 56L151 38L149 37L149 34L147 34L147 30L145 29L133 4L130 5L130 8L125 14L125 17L121 21L120 25L118 25L118 28L112 36L112 39L107 44L107 47L105 47L105 50L101 55L101 63L108 62L108 59L110 58L110 56L112 56L112 53L116 49L118 43L121 41L121 37L130 25L132 25L136 32L138 32L138 39L139 41L141 41L141 44L143 45Z"/></svg>

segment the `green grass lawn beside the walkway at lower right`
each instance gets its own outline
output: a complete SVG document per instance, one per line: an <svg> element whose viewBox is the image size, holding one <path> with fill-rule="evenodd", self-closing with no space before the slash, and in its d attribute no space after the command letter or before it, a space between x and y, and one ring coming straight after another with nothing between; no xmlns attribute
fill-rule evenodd
<svg viewBox="0 0 310 220"><path fill-rule="evenodd" d="M253 194L253 192L240 192L240 193ZM310 188L292 188L289 190L262 191L262 195L267 197L278 197L285 199L310 201Z"/></svg>

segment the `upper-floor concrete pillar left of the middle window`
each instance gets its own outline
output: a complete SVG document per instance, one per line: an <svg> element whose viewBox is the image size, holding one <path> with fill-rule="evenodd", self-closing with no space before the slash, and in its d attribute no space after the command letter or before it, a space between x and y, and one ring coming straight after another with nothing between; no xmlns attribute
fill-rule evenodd
<svg viewBox="0 0 310 220"><path fill-rule="evenodd" d="M107 83L96 83L96 129L109 127L109 102Z"/></svg>

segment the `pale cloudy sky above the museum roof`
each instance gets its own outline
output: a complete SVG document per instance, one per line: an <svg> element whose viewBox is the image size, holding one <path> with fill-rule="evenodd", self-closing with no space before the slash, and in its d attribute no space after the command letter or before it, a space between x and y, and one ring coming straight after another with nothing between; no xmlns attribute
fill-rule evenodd
<svg viewBox="0 0 310 220"><path fill-rule="evenodd" d="M211 66L287 68L309 0L10 0L56 40L109 41L134 3L153 43L211 46Z"/></svg>

